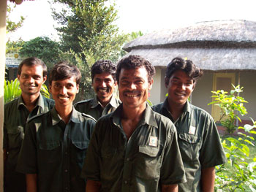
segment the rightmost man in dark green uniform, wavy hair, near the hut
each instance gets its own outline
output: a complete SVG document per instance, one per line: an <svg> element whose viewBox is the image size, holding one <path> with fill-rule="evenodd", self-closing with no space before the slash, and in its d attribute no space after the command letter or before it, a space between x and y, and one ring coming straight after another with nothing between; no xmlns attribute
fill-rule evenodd
<svg viewBox="0 0 256 192"><path fill-rule="evenodd" d="M168 96L153 107L170 118L178 132L187 177L187 183L179 184L178 191L214 191L214 168L227 161L213 118L187 101L202 74L192 61L173 58L165 74Z"/></svg>

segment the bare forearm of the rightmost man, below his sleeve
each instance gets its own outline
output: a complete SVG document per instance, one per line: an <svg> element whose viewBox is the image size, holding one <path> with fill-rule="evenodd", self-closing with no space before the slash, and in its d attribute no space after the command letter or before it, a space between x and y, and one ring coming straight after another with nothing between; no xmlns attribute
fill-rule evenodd
<svg viewBox="0 0 256 192"><path fill-rule="evenodd" d="M202 169L201 178L203 191L213 192L215 181L215 166Z"/></svg>

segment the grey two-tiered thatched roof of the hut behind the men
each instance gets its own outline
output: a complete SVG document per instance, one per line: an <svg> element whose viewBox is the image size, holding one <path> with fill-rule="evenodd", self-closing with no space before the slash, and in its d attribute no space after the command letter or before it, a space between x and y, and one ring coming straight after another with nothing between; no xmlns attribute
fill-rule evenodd
<svg viewBox="0 0 256 192"><path fill-rule="evenodd" d="M176 56L205 70L256 70L256 22L220 20L146 34L123 47L154 66Z"/></svg>

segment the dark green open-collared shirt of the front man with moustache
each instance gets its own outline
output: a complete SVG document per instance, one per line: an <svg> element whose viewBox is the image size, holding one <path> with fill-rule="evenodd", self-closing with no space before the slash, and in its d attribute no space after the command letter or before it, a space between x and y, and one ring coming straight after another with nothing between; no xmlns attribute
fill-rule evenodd
<svg viewBox="0 0 256 192"><path fill-rule="evenodd" d="M156 192L185 182L173 123L147 106L127 140L121 111L122 104L97 121L82 176L100 181L105 192Z"/></svg>

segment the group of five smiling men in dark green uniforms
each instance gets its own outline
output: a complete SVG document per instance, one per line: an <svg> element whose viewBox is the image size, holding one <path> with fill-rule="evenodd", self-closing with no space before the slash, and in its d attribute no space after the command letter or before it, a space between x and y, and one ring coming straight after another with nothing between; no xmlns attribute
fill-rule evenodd
<svg viewBox="0 0 256 192"><path fill-rule="evenodd" d="M168 96L153 107L155 69L139 55L97 61L96 96L75 105L79 69L53 66L54 101L40 94L46 74L38 58L24 60L21 96L5 104L4 192L214 191L214 168L227 160L213 118L188 101L203 74L192 61L168 64Z"/></svg>

